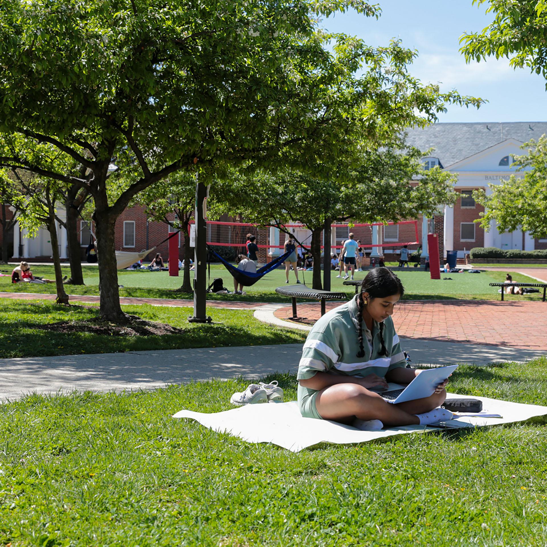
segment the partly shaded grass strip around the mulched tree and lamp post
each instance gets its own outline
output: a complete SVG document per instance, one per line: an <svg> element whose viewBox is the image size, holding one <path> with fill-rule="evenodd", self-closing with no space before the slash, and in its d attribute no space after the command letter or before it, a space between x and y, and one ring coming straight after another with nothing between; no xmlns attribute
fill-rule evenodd
<svg viewBox="0 0 547 547"><path fill-rule="evenodd" d="M260 346L303 342L306 332L280 329L253 318L250 310L208 308L214 323L188 323L191 308L123 306L148 321L167 323L182 333L163 336L107 336L90 332L54 332L38 327L60 321L83 321L96 306L57 306L51 301L0 298L0 358L129 352L153 349Z"/></svg>

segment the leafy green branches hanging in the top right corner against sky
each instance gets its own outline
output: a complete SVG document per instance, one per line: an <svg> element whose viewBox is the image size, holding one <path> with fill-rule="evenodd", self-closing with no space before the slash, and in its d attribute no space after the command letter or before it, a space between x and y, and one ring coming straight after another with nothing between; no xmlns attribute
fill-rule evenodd
<svg viewBox="0 0 547 547"><path fill-rule="evenodd" d="M547 2L545 0L473 0L488 3L494 20L480 32L464 34L460 43L470 62L507 57L514 68L528 67L547 79ZM547 88L547 82L545 83Z"/></svg>

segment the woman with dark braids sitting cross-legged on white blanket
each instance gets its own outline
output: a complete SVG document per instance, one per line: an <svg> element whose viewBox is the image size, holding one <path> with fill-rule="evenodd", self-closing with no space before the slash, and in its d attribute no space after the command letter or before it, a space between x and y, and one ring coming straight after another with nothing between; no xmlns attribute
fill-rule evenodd
<svg viewBox="0 0 547 547"><path fill-rule="evenodd" d="M422 372L405 368L391 319L403 293L397 275L388 268L374 268L363 280L359 295L313 325L298 366L302 416L360 429L427 425L452 417L451 412L438 408L446 398L448 381L429 397L399 404L371 391L386 388L387 382L408 384Z"/></svg>

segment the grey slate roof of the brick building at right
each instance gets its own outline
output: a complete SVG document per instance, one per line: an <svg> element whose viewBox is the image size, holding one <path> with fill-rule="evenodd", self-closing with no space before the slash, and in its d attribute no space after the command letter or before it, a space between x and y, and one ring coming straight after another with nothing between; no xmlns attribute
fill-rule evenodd
<svg viewBox="0 0 547 547"><path fill-rule="evenodd" d="M436 123L406 133L408 145L422 152L435 148L432 157L439 158L446 168L508 139L537 141L547 133L547 122Z"/></svg>

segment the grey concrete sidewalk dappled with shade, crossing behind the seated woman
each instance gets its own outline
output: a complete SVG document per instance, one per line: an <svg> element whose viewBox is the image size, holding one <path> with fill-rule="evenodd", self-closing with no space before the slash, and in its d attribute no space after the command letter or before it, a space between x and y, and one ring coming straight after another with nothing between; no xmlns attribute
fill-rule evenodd
<svg viewBox="0 0 547 547"><path fill-rule="evenodd" d="M545 355L487 344L401 338L414 365L526 361ZM302 344L0 359L0 401L28 393L153 389L212 378L296 372Z"/></svg>

